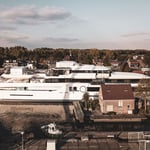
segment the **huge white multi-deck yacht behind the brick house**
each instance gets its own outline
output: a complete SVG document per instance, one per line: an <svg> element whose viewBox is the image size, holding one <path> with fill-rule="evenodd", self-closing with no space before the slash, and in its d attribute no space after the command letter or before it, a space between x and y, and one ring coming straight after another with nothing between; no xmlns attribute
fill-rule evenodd
<svg viewBox="0 0 150 150"><path fill-rule="evenodd" d="M69 102L82 100L88 92L90 98L98 99L102 83L124 83L132 87L149 76L112 72L110 67L79 64L75 61L59 61L50 74L26 74L24 67L11 68L10 74L2 74L0 101Z"/></svg>

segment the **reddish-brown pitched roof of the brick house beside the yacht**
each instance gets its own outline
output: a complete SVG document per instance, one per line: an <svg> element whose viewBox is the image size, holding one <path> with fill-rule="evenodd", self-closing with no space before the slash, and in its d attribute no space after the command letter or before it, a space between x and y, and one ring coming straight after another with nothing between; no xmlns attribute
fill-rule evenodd
<svg viewBox="0 0 150 150"><path fill-rule="evenodd" d="M134 99L131 85L129 84L102 84L103 100L126 100Z"/></svg>

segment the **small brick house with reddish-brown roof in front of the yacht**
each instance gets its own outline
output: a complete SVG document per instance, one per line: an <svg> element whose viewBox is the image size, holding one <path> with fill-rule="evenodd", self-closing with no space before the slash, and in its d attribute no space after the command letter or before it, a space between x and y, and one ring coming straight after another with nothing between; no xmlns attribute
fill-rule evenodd
<svg viewBox="0 0 150 150"><path fill-rule="evenodd" d="M134 96L131 85L102 84L99 91L99 103L102 113L132 114Z"/></svg>

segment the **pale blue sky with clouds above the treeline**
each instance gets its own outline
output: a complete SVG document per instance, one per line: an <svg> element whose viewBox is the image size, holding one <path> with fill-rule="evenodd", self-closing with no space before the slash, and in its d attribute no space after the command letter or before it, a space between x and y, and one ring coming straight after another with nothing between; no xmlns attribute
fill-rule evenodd
<svg viewBox="0 0 150 150"><path fill-rule="evenodd" d="M150 0L0 0L0 47L150 50Z"/></svg>

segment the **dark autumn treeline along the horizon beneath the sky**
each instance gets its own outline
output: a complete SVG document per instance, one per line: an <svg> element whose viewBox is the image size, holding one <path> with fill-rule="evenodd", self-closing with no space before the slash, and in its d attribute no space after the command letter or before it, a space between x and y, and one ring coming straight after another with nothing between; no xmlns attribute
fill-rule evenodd
<svg viewBox="0 0 150 150"><path fill-rule="evenodd" d="M75 60L79 63L92 64L101 60L109 65L110 60L127 61L133 55L144 55L144 63L150 66L150 51L146 50L99 50L99 49L64 49L35 48L29 50L22 46L0 47L0 66L6 60L34 61L37 64L55 63L60 60Z"/></svg>

